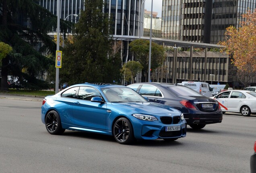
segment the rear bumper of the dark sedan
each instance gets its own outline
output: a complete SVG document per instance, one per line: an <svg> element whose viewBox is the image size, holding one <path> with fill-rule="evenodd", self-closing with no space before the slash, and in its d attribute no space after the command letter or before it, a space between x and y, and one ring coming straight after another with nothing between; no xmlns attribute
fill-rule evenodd
<svg viewBox="0 0 256 173"><path fill-rule="evenodd" d="M214 124L221 123L223 114L184 114L184 118L188 125L190 124Z"/></svg>

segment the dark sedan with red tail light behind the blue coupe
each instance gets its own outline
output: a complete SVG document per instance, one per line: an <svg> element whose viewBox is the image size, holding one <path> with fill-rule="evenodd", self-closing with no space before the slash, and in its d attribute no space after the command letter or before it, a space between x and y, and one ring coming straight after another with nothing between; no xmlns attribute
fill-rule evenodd
<svg viewBox="0 0 256 173"><path fill-rule="evenodd" d="M188 87L169 84L142 82L128 85L153 103L161 103L180 110L193 129L202 129L207 124L221 123L222 111L219 103Z"/></svg>

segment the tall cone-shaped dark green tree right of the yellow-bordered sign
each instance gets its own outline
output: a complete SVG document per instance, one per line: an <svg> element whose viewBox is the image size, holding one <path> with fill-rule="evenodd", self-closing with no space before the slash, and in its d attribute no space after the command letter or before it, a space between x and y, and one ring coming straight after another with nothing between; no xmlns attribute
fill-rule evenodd
<svg viewBox="0 0 256 173"><path fill-rule="evenodd" d="M102 0L84 5L72 41L65 42L60 78L68 84L118 81L122 62L118 52L112 54L112 20L102 11Z"/></svg>

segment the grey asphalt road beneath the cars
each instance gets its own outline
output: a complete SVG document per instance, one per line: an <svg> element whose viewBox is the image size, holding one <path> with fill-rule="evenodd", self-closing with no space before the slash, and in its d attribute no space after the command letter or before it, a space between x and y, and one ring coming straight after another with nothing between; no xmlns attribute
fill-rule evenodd
<svg viewBox="0 0 256 173"><path fill-rule="evenodd" d="M76 131L50 135L42 98L0 95L1 173L249 173L256 116L223 122L174 142L120 145L113 137Z"/></svg>

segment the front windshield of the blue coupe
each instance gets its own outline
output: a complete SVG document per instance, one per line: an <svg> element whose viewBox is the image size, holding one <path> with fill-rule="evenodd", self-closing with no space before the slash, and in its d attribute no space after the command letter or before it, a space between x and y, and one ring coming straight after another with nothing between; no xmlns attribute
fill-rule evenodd
<svg viewBox="0 0 256 173"><path fill-rule="evenodd" d="M101 90L109 102L147 102L144 97L128 87L109 87Z"/></svg>

